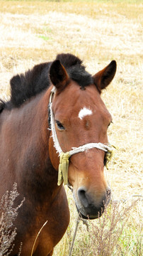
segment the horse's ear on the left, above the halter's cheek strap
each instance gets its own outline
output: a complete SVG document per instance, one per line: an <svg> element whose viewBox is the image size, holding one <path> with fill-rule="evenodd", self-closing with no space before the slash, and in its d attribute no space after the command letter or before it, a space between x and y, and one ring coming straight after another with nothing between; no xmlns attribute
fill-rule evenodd
<svg viewBox="0 0 143 256"><path fill-rule="evenodd" d="M62 90L67 85L69 75L59 60L55 60L50 66L50 80L57 90Z"/></svg>

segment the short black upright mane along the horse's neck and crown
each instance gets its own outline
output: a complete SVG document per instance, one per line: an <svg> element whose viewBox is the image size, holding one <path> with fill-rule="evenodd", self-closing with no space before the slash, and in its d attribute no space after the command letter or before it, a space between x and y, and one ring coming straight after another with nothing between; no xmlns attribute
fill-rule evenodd
<svg viewBox="0 0 143 256"><path fill-rule="evenodd" d="M93 82L82 61L76 56L62 53L57 55L56 59L64 65L69 77L78 82L82 89ZM25 74L13 76L10 80L11 100L8 102L1 101L0 112L4 108L20 107L30 97L38 95L42 90L48 88L50 86L49 70L51 64L52 62L35 65L32 70L28 70Z"/></svg>

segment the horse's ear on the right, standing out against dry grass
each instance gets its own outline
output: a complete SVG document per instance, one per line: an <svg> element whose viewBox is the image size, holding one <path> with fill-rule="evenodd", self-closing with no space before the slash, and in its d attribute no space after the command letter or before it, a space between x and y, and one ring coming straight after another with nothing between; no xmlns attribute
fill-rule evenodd
<svg viewBox="0 0 143 256"><path fill-rule="evenodd" d="M112 60L111 63L107 65L107 67L96 73L96 75L93 75L93 80L100 93L101 90L105 89L105 87L107 87L113 80L116 72L116 66L116 61Z"/></svg>

